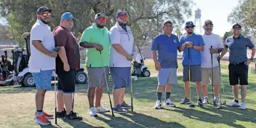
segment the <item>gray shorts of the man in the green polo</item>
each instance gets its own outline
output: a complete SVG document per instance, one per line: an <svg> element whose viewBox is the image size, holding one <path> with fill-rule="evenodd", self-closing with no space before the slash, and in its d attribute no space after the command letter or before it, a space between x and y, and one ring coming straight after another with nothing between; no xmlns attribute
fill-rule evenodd
<svg viewBox="0 0 256 128"><path fill-rule="evenodd" d="M88 87L101 87L106 86L105 76L108 81L108 66L105 66L105 74L103 67L87 67L88 72Z"/></svg>

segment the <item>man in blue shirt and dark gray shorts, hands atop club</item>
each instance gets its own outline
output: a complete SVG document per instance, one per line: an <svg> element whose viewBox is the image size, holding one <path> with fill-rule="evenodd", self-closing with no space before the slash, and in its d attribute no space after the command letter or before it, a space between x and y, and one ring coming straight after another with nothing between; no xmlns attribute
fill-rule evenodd
<svg viewBox="0 0 256 128"><path fill-rule="evenodd" d="M201 100L201 53L200 51L204 50L204 40L201 35L197 35L193 33L193 22L188 21L185 23L185 36L180 38L180 43L183 44L182 47L179 48L179 51L183 52L183 81L184 81L184 92L185 98L180 104L190 104L190 85L189 79L196 83L196 92L198 95L197 105L203 107L203 101ZM188 50L189 49L189 50ZM188 53L189 52L189 53ZM190 58L188 58L188 55ZM189 67L190 66L190 67ZM189 75L190 68L190 75ZM188 78L191 76L191 78Z"/></svg>

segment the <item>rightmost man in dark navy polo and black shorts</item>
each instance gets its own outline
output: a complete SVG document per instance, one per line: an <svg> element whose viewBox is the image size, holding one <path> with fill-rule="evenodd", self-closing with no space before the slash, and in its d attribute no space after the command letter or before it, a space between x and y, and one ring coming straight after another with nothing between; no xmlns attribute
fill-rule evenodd
<svg viewBox="0 0 256 128"><path fill-rule="evenodd" d="M225 48L221 53L221 59L229 49L229 83L233 86L233 101L228 106L239 106L239 84L241 85L240 109L247 109L245 97L247 96L248 65L255 57L255 45L252 41L241 35L241 24L235 23L232 27L233 35L225 40ZM247 58L247 47L252 50L251 57Z"/></svg>

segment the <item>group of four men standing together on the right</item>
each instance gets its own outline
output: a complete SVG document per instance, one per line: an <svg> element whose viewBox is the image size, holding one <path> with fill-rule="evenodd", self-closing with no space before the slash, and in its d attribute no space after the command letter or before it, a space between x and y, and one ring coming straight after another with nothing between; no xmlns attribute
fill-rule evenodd
<svg viewBox="0 0 256 128"><path fill-rule="evenodd" d="M152 43L153 61L158 74L157 100L154 108L161 108L161 95L164 92L166 97L164 104L170 107L172 103L170 94L172 84L177 84L177 50L183 52L183 81L185 98L180 104L191 104L190 100L190 81L196 83L198 95L197 105L203 107L208 103L207 84L209 80L214 85L214 101L220 103L220 60L229 48L229 83L233 86L233 101L228 106L240 106L246 109L245 97L248 85L248 65L255 56L255 46L252 41L241 35L241 24L236 23L232 26L233 35L229 36L225 43L220 36L212 33L213 23L211 20L204 22L204 35L193 33L195 25L188 21L185 23L185 35L181 36L180 41L177 36L172 34L173 25L171 21L163 24L164 33L156 36ZM252 50L252 55L247 58L247 48ZM158 52L158 56L156 54ZM221 52L221 55L219 55ZM190 78L189 78L190 77ZM239 84L241 85L241 105L239 104ZM204 99L202 99L202 97Z"/></svg>

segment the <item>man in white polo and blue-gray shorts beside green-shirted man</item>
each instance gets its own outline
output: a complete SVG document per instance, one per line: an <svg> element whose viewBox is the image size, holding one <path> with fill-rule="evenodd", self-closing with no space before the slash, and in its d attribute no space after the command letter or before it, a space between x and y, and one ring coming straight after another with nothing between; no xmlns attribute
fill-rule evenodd
<svg viewBox="0 0 256 128"><path fill-rule="evenodd" d="M116 13L116 24L110 30L111 37L111 76L113 79L113 111L126 113L132 108L124 102L125 88L131 85L132 58L136 56L132 30L127 25L127 12Z"/></svg>

